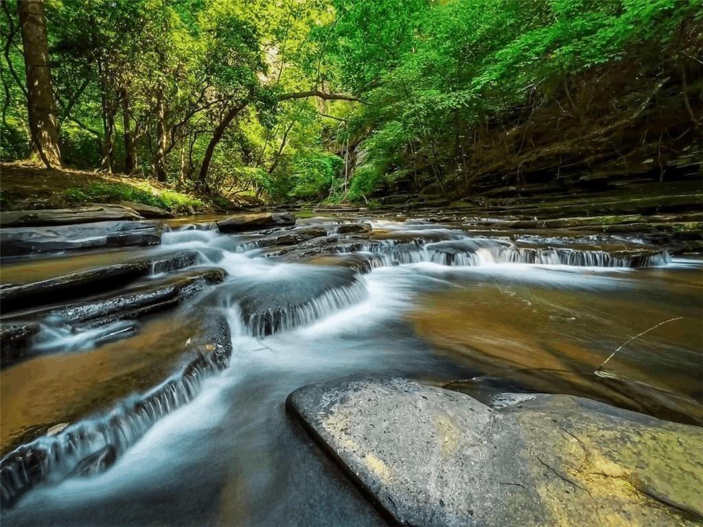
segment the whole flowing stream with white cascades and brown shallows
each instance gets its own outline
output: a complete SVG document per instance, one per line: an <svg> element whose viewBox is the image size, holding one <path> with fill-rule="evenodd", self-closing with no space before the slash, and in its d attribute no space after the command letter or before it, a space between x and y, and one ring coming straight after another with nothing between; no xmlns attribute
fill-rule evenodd
<svg viewBox="0 0 703 527"><path fill-rule="evenodd" d="M119 457L103 474L66 477L56 467L83 453L60 450L61 477L4 509L5 525L384 524L285 413L291 391L341 377L453 383L496 404L502 391L574 393L703 419L700 259L612 250L619 240L594 248L566 233L516 241L372 219L363 238L327 219L300 223L323 228L324 249L312 250L315 240L280 249L271 235L221 235L208 223L174 227L139 256L192 250L198 266L224 268L224 282L108 344L42 329L38 353L1 372L4 453L37 425L75 422L57 437L82 427L92 450L115 444ZM129 256L19 262L3 280ZM213 309L228 321L230 363L179 377L184 343ZM593 375L618 346L672 318Z"/></svg>

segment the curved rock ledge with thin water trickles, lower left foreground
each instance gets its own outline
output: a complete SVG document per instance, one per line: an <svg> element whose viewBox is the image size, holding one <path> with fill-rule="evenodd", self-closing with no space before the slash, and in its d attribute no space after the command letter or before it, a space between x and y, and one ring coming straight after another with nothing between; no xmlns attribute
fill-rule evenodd
<svg viewBox="0 0 703 527"><path fill-rule="evenodd" d="M54 436L20 445L3 457L0 506L12 507L43 481L58 483L68 476L90 476L109 468L159 419L193 401L202 382L224 370L232 354L231 334L224 316L219 310L212 310L205 320L204 334L188 346L195 358L162 384L117 403L110 410L73 422Z"/></svg>

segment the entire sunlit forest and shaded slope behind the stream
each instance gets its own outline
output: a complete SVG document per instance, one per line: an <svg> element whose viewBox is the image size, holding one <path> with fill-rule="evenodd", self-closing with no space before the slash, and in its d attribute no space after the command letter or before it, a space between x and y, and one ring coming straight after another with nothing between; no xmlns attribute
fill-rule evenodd
<svg viewBox="0 0 703 527"><path fill-rule="evenodd" d="M373 204L613 160L632 171L654 158L663 174L703 126L695 0L2 0L2 11L4 161L271 204Z"/></svg>

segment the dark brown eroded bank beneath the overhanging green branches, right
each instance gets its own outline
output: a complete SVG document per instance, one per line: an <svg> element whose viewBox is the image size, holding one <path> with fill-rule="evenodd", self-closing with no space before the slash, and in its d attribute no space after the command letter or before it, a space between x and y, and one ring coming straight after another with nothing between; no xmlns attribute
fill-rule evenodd
<svg viewBox="0 0 703 527"><path fill-rule="evenodd" d="M703 67L694 60L667 56L647 67L631 55L535 89L522 108L485 123L451 123L456 134L434 138L431 162L408 149L400 166L389 167L396 174L387 178L392 183L374 197L384 204L413 203L423 196L591 193L645 181L699 179L702 78ZM353 150L363 148L361 140ZM350 157L352 171L357 158L366 162L363 153Z"/></svg>

